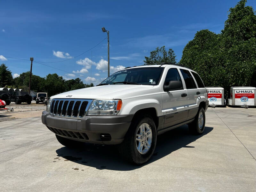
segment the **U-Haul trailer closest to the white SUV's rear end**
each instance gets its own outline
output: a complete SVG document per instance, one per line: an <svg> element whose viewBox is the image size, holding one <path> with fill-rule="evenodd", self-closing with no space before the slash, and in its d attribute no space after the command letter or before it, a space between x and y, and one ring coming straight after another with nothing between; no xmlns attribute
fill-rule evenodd
<svg viewBox="0 0 256 192"><path fill-rule="evenodd" d="M224 88L222 87L205 87L208 93L208 101L210 106L226 105L224 99Z"/></svg>

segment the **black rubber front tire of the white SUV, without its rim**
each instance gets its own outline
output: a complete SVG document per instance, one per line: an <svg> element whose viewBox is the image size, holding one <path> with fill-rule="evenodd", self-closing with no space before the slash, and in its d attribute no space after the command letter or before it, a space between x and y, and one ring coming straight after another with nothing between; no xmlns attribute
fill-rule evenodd
<svg viewBox="0 0 256 192"><path fill-rule="evenodd" d="M141 124L146 123L152 131L152 143L145 154L140 154L137 149L136 135ZM120 155L132 164L145 164L153 155L156 148L156 125L150 116L140 116L135 118L125 135L124 141L117 146Z"/></svg>

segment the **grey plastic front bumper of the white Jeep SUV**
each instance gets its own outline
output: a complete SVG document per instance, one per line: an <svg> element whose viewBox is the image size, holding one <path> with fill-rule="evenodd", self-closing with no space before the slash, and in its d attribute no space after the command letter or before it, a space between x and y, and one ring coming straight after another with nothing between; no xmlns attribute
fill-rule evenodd
<svg viewBox="0 0 256 192"><path fill-rule="evenodd" d="M43 111L42 123L61 137L87 143L114 145L124 140L133 115L84 116L82 119L54 117ZM108 133L111 140L104 140L101 134Z"/></svg>

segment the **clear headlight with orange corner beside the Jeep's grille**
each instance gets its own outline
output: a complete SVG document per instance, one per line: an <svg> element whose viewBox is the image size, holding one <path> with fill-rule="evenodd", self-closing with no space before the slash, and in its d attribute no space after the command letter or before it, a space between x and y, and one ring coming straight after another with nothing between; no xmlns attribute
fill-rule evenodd
<svg viewBox="0 0 256 192"><path fill-rule="evenodd" d="M122 108L121 100L95 99L87 112L87 115L117 115Z"/></svg>

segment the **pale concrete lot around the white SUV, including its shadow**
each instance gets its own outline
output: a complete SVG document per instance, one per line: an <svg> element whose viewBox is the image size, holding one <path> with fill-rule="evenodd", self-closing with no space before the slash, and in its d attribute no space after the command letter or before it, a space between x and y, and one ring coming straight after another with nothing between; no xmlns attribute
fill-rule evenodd
<svg viewBox="0 0 256 192"><path fill-rule="evenodd" d="M143 166L115 146L62 146L40 114L4 121L0 191L256 191L255 117L256 108L208 108L203 135L184 125L158 136Z"/></svg>

